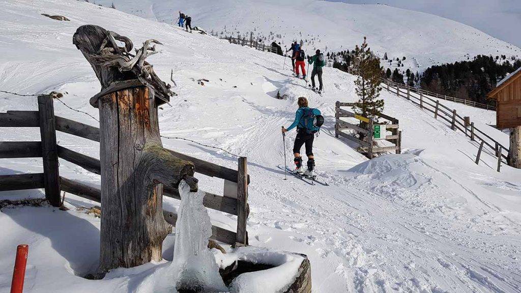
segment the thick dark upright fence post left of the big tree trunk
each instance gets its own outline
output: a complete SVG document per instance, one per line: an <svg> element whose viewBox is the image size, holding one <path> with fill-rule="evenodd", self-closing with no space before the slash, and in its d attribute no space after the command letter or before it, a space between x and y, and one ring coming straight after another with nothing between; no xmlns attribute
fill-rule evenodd
<svg viewBox="0 0 521 293"><path fill-rule="evenodd" d="M54 117L53 96L38 96L40 136L42 138L42 158L45 198L53 206L60 206L60 180L58 172L58 146L56 145L56 119Z"/></svg>

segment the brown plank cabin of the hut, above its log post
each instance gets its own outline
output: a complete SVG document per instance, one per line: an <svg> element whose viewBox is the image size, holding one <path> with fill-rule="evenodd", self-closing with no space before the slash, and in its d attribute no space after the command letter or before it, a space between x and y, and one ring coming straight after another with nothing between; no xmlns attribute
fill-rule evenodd
<svg viewBox="0 0 521 293"><path fill-rule="evenodd" d="M521 67L498 82L487 97L498 103L496 124L499 129L521 126Z"/></svg>

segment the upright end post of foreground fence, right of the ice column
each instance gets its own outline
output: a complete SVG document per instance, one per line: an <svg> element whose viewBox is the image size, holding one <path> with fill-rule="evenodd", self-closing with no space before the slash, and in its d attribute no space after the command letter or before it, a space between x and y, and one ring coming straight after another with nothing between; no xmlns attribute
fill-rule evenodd
<svg viewBox="0 0 521 293"><path fill-rule="evenodd" d="M239 157L237 176L237 243L235 246L248 245L246 231L248 202L248 166L246 157Z"/></svg>

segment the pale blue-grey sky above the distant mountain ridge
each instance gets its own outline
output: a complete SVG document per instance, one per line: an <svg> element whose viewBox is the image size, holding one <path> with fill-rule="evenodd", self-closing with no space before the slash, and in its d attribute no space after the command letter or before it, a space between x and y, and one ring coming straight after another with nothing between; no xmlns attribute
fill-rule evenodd
<svg viewBox="0 0 521 293"><path fill-rule="evenodd" d="M521 47L521 0L326 0L352 4L387 4L423 11L475 27Z"/></svg>

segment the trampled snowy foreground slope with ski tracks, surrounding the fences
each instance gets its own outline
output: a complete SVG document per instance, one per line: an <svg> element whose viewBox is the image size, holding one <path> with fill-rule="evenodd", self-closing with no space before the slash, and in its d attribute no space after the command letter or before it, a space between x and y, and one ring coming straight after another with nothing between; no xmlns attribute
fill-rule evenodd
<svg viewBox="0 0 521 293"><path fill-rule="evenodd" d="M155 38L165 45L150 62L163 80L170 70L178 84L173 107L159 112L164 136L212 144L248 157L251 185L250 244L308 255L314 292L519 292L521 290L521 171L450 130L410 102L382 91L386 114L400 119L402 155L368 161L349 143L334 138L334 102L354 101L354 77L325 68L324 97L291 77L283 58L189 34L166 23L74 0L0 1L0 90L19 93L67 91L63 101L97 117L89 98L100 90L90 65L72 45L86 23L129 36L138 45ZM41 13L71 19L57 21ZM158 47L159 48L159 47ZM286 64L287 65L287 64ZM197 79L205 78L204 86ZM236 86L236 88L235 88ZM276 93L286 100L274 99ZM277 168L283 163L280 126L288 126L296 99L308 97L326 116L314 150L318 175L330 187L308 186ZM457 105L480 129L493 112ZM33 97L0 94L0 112L37 109ZM57 115L97 125L88 115L58 101ZM38 129L0 129L1 140L39 140ZM288 140L294 139L294 132ZM99 144L59 133L58 143L99 157ZM191 142L164 139L167 148L236 167L236 158ZM291 143L287 145L288 154ZM506 144L505 144L506 145ZM1 159L0 174L42 172L41 160ZM60 161L62 176L98 186L100 177ZM222 181L199 176L200 186L221 193ZM40 190L0 193L0 199L42 197ZM15 207L0 213L0 292L8 292L14 252L30 245L27 292L158 292L171 279L173 234L162 263L116 270L103 280L81 276L95 270L100 220L80 206L96 203L66 196L67 212L51 207ZM165 199L165 208L179 202ZM214 225L233 229L236 218L210 212ZM171 282L174 282L171 279Z"/></svg>

